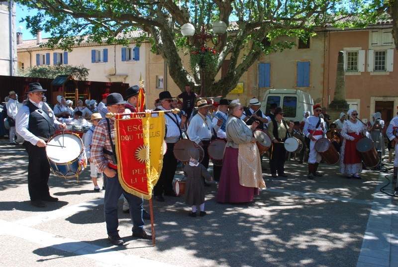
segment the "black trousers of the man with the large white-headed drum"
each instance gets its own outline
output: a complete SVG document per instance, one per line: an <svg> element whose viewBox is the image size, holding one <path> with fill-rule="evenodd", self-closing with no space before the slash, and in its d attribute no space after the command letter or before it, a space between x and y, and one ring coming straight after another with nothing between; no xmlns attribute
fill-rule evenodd
<svg viewBox="0 0 398 267"><path fill-rule="evenodd" d="M24 142L28 153L28 190L30 200L41 200L50 195L48 178L50 177L50 163L47 159L45 147L32 145Z"/></svg>

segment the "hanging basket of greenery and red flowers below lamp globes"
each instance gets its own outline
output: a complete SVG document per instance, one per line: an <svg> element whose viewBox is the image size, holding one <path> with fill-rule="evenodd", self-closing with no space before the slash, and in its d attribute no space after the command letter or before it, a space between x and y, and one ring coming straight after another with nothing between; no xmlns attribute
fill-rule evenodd
<svg viewBox="0 0 398 267"><path fill-rule="evenodd" d="M190 68L195 71L198 67L205 72L215 73L218 63L218 53L213 48L202 47L191 50Z"/></svg>

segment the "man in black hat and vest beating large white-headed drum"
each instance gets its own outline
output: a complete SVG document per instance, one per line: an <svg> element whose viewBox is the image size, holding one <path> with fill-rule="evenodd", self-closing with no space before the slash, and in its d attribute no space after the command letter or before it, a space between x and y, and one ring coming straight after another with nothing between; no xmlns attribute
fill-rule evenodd
<svg viewBox="0 0 398 267"><path fill-rule="evenodd" d="M57 121L54 112L46 102L42 102L47 91L39 83L29 84L29 100L15 117L16 132L25 139L23 143L29 157L28 190L30 203L35 207L44 207L42 201L56 202L48 188L50 164L47 159L46 141L55 134L55 127L62 129L64 123Z"/></svg>

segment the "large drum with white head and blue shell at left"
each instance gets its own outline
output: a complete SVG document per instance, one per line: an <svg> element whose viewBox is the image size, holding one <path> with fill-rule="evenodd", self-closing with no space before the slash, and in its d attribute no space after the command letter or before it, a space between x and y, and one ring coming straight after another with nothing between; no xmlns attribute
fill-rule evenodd
<svg viewBox="0 0 398 267"><path fill-rule="evenodd" d="M74 133L58 133L47 141L51 170L61 178L78 177L87 167L83 141Z"/></svg>

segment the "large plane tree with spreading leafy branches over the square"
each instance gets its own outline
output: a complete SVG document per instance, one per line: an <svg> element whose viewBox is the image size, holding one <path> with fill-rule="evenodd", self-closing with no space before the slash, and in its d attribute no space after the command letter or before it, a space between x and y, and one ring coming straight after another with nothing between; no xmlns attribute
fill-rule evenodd
<svg viewBox="0 0 398 267"><path fill-rule="evenodd" d="M235 88L241 76L262 55L290 48L294 43L276 42L278 36L298 36L306 39L316 27L326 24L337 27L353 26L346 18L352 14L366 17L361 11L364 0L16 0L38 9L37 15L25 21L32 34L50 32L50 47L70 49L74 44L90 41L128 44L128 33L142 30L142 42L152 42L168 65L169 74L177 86L186 84L199 91L200 71L183 66L181 51L192 49L181 34L187 22L199 33L204 24L210 29L221 20L228 31L221 36L216 51L215 71L205 68L205 94L227 94ZM370 1L372 2L372 1ZM358 20L356 20L358 21ZM88 36L89 35L89 36ZM87 40L86 40L87 41ZM271 42L270 42L271 41ZM192 57L196 57L195 52ZM222 63L229 59L225 75L215 80Z"/></svg>

